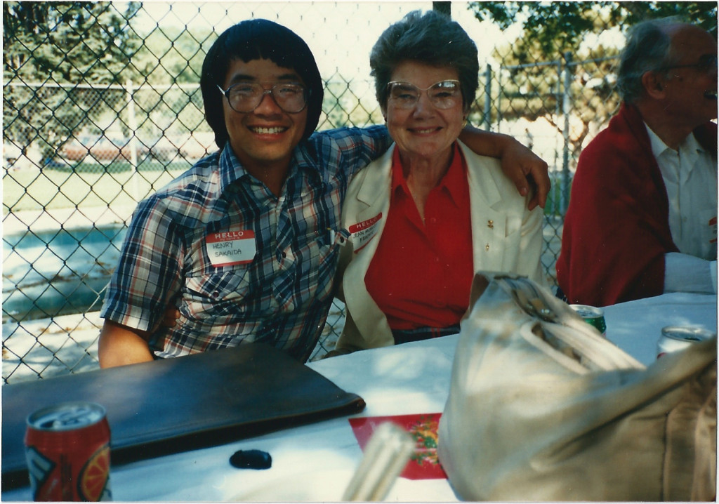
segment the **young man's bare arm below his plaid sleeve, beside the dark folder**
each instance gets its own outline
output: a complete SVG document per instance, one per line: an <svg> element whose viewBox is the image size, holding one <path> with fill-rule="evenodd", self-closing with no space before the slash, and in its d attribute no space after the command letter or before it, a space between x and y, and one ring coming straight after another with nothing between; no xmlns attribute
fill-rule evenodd
<svg viewBox="0 0 719 504"><path fill-rule="evenodd" d="M145 333L106 320L100 332L98 357L100 367L116 367L154 359Z"/></svg>

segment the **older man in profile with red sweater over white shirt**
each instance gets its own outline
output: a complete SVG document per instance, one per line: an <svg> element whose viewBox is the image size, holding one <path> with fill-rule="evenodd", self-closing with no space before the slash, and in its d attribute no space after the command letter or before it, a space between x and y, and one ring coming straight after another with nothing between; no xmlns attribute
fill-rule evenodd
<svg viewBox="0 0 719 504"><path fill-rule="evenodd" d="M717 42L671 19L638 24L624 103L582 152L557 260L570 303L716 293Z"/></svg>

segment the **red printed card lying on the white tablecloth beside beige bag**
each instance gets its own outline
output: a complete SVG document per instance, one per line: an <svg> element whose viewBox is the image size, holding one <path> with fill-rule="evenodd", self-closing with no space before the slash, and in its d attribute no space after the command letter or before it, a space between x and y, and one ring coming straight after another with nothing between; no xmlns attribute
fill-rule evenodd
<svg viewBox="0 0 719 504"><path fill-rule="evenodd" d="M420 413L415 415L366 416L349 418L354 437L362 450L367 446L378 426L385 422L396 423L414 438L416 447L401 477L408 480L446 480L437 459L437 426L441 413Z"/></svg>

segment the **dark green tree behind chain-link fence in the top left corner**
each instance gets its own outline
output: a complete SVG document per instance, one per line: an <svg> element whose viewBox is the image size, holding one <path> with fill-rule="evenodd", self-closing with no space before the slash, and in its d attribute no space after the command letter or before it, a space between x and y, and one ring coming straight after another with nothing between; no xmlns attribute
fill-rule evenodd
<svg viewBox="0 0 719 504"><path fill-rule="evenodd" d="M137 2L124 12L109 2L4 2L4 137L23 151L38 142L50 155L87 110L110 106L97 95L83 111L83 91L73 86L122 84L137 75L130 62L140 43L129 22L138 9ZM45 86L17 86L26 83Z"/></svg>

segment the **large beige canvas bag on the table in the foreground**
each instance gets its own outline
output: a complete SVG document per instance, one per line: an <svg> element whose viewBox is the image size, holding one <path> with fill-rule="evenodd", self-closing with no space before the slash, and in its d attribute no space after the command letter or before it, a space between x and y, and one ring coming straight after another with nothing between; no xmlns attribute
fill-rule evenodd
<svg viewBox="0 0 719 504"><path fill-rule="evenodd" d="M549 290L491 273L461 328L438 452L460 498L715 500L716 337L645 367Z"/></svg>

